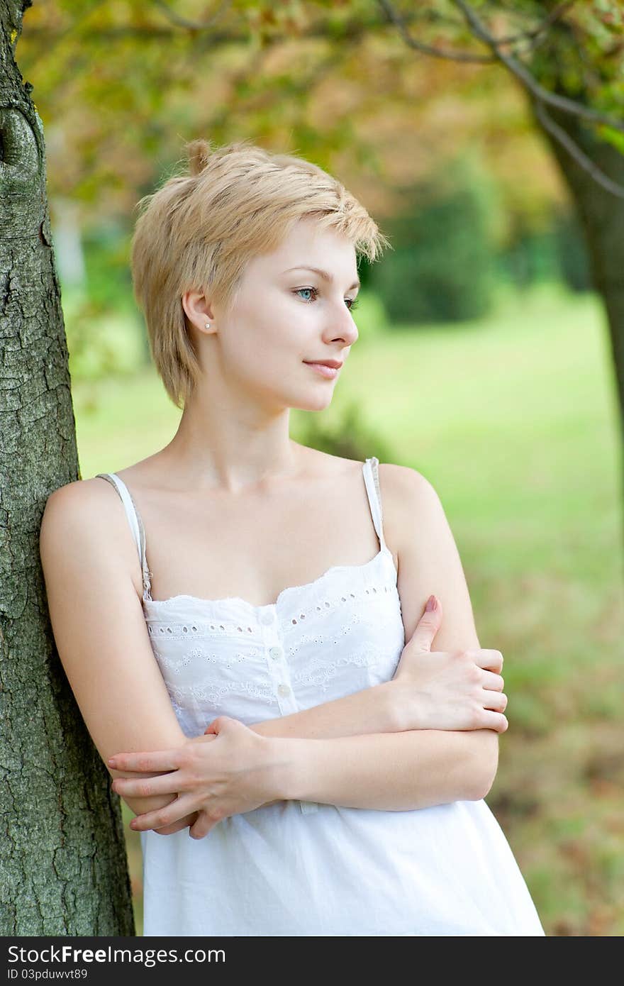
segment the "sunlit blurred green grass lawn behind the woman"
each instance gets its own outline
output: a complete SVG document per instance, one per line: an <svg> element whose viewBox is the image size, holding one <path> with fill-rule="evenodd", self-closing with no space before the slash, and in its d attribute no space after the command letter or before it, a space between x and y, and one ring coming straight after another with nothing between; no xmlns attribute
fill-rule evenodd
<svg viewBox="0 0 624 986"><path fill-rule="evenodd" d="M345 369L317 417L335 427L357 400L386 460L433 483L481 646L505 656L510 728L487 803L546 933L622 935L622 458L600 305L508 293L478 323L363 334ZM85 479L161 449L180 415L151 370L73 394ZM295 438L307 418L293 412Z"/></svg>

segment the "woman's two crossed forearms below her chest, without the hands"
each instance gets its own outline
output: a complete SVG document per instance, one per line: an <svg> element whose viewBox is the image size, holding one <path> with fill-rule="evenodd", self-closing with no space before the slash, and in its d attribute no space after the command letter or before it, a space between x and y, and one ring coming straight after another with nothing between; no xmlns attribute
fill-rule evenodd
<svg viewBox="0 0 624 986"><path fill-rule="evenodd" d="M281 797L390 811L485 797L496 774L498 734L401 731L397 685L384 682L252 726L282 740Z"/></svg>

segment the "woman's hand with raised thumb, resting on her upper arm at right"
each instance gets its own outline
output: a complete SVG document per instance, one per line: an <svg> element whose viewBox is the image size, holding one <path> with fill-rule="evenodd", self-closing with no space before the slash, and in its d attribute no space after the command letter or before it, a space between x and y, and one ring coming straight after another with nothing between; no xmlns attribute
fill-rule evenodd
<svg viewBox="0 0 624 986"><path fill-rule="evenodd" d="M507 695L500 651L432 651L442 623L442 603L425 609L394 672L406 730L494 730L504 733Z"/></svg>

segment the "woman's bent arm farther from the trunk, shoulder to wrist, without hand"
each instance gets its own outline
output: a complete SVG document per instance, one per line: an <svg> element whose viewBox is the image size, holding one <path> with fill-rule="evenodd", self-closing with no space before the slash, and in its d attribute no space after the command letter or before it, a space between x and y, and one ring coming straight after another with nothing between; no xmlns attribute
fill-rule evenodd
<svg viewBox="0 0 624 986"><path fill-rule="evenodd" d="M406 639L413 636L425 600L434 594L443 603L444 619L431 650L480 650L461 562L435 490L419 473L402 466L382 466L380 480L386 505L386 539L400 545L398 588ZM325 712L337 704L327 703ZM490 790L498 765L498 733L492 729L418 730L312 740L291 733L288 738L271 739L270 749L275 770L273 787L266 792L267 803L268 799L300 799L405 810L478 800ZM208 772L209 761L208 751ZM131 769L136 764L124 765ZM183 758L179 769L186 769ZM201 773L195 761L194 774ZM165 778L163 781L168 783ZM201 808L195 826L197 837L215 823L221 810L219 799L203 800ZM166 809L158 818L138 818L136 827L174 821L174 812Z"/></svg>

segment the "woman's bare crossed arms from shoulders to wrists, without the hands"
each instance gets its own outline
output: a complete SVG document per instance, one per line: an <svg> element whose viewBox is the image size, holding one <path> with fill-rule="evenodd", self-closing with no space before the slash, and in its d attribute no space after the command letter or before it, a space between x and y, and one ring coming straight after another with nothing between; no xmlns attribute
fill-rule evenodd
<svg viewBox="0 0 624 986"><path fill-rule="evenodd" d="M412 636L425 599L434 593L443 602L445 617L432 649L479 648L461 564L433 487L402 466L382 465L380 478L386 538L401 544L398 591L405 639ZM216 752L221 737L188 740L175 719L128 575L136 555L114 491L96 480L55 491L46 505L40 551L58 652L104 763L120 750L180 752L195 740L216 741ZM127 559L127 571L121 574L120 556ZM86 566L89 579L84 577ZM115 613L113 623L109 613ZM405 810L483 797L496 774L498 734L490 729L406 729L400 695L396 681L383 682L256 723L250 730L244 727L247 739L253 733L258 740L254 755L255 746L278 751L282 763L274 788L266 791L269 801L262 798L259 804L294 798ZM134 790L119 790L130 809L148 812L136 827L156 827L167 834L172 818L154 823L150 813L176 800L176 794L162 786L159 792L156 784L171 769L136 762L109 767L115 781L132 781ZM141 778L146 784L136 790Z"/></svg>

